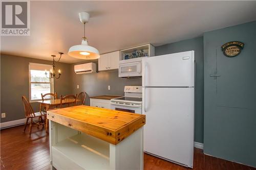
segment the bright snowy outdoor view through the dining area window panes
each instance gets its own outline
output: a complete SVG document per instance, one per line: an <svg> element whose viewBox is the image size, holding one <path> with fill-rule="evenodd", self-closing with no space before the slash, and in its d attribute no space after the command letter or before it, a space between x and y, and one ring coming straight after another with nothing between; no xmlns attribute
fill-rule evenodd
<svg viewBox="0 0 256 170"><path fill-rule="evenodd" d="M31 100L40 100L41 93L51 92L51 81L45 75L43 70L30 70L30 89ZM49 76L49 71L47 71Z"/></svg>

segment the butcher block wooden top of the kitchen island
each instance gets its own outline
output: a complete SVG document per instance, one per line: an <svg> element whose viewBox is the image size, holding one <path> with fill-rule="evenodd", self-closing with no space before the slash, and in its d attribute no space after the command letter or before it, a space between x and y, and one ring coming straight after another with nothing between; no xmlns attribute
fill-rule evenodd
<svg viewBox="0 0 256 170"><path fill-rule="evenodd" d="M112 144L145 125L143 114L83 105L49 110L47 118Z"/></svg>

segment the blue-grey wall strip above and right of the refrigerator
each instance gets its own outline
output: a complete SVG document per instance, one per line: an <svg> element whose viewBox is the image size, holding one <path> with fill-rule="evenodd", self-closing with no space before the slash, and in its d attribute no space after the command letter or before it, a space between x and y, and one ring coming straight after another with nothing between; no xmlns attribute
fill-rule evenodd
<svg viewBox="0 0 256 170"><path fill-rule="evenodd" d="M196 113L195 113L195 141L203 143L203 37L174 42L155 47L155 55L164 55L184 51L195 51L196 58Z"/></svg>

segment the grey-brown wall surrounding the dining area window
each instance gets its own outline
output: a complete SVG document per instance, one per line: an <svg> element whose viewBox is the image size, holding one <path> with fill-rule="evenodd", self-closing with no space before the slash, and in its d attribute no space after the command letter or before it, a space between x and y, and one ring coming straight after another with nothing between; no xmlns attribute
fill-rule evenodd
<svg viewBox="0 0 256 170"><path fill-rule="evenodd" d="M52 64L51 61L38 60L27 57L17 57L1 54L1 113L6 113L6 118L1 122L22 119L25 117L21 96L29 99L29 62ZM54 80L54 91L60 94L70 94L71 72L70 64L57 63L62 76ZM34 111L39 110L37 103L32 103Z"/></svg>

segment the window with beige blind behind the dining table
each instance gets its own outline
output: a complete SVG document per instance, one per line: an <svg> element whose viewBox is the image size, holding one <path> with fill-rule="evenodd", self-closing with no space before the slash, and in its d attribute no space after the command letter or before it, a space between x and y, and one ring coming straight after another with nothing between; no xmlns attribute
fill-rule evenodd
<svg viewBox="0 0 256 170"><path fill-rule="evenodd" d="M41 100L41 93L53 93L53 79L49 76L52 65L29 63L29 100L30 102Z"/></svg>

